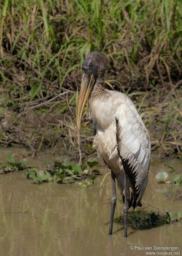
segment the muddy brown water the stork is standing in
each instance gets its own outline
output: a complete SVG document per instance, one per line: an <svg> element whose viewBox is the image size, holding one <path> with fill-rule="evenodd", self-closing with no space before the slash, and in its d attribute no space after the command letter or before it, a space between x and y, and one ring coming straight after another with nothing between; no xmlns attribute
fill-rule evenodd
<svg viewBox="0 0 182 256"><path fill-rule="evenodd" d="M24 149L1 148L0 160L6 160L9 154L16 154L17 151L19 155L25 153ZM49 154L48 151L42 153L42 160L47 160ZM42 166L36 157L26 158L31 166ZM181 170L177 159L165 159L163 163L151 164L143 200L167 212L171 200L166 193L172 192L172 185L158 184L155 179L156 173L161 171L164 163L171 165L178 172ZM108 172L104 164L99 170L103 174ZM111 197L109 176L97 192L103 178L101 175L94 180L90 188L53 182L33 184L32 180L25 178L24 171L0 175L0 255L114 256L147 255L146 252L155 252L156 255L161 252L182 253L182 221L171 225L160 222L155 228L141 228L135 221L136 216L144 218L149 216L151 211L158 212L144 203L140 211L128 213L128 237L124 238L124 226L121 223L123 203L118 189L113 235L108 236ZM177 190L182 190L181 186ZM173 212L177 211L182 211L181 200L173 204ZM118 222L120 214L121 222ZM131 249L132 246L134 249ZM145 246L151 246L150 250ZM179 248L165 250L159 246Z"/></svg>

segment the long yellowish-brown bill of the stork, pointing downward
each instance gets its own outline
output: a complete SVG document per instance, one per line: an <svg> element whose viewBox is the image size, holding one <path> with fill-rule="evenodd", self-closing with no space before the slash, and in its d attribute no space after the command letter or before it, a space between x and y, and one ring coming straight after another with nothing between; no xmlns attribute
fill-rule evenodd
<svg viewBox="0 0 182 256"><path fill-rule="evenodd" d="M79 94L79 99L78 99L78 108L77 108L77 113L76 113L76 124L78 126L78 130L81 130L81 117L82 117L82 112L85 106L85 103L90 95L92 86L95 82L93 74L91 77L88 77L85 73L82 76L82 82L80 86L80 94Z"/></svg>

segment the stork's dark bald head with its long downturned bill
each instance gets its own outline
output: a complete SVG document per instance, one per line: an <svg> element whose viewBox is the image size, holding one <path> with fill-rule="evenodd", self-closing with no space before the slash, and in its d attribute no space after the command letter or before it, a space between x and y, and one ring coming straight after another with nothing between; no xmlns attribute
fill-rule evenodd
<svg viewBox="0 0 182 256"><path fill-rule="evenodd" d="M103 84L107 65L107 58L102 52L91 52L84 59L82 64L83 74L76 115L76 123L79 130L81 127L81 116L85 103L90 96L94 85L96 83L100 85Z"/></svg>

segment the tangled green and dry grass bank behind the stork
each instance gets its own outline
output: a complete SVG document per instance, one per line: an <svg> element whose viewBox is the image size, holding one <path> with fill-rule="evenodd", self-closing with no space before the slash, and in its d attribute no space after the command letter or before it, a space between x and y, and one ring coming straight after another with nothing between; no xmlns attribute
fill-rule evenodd
<svg viewBox="0 0 182 256"><path fill-rule="evenodd" d="M0 143L39 154L91 154L89 113L75 113L81 65L105 52L112 90L134 101L159 156L181 156L182 4L177 0L3 0L0 3Z"/></svg>

